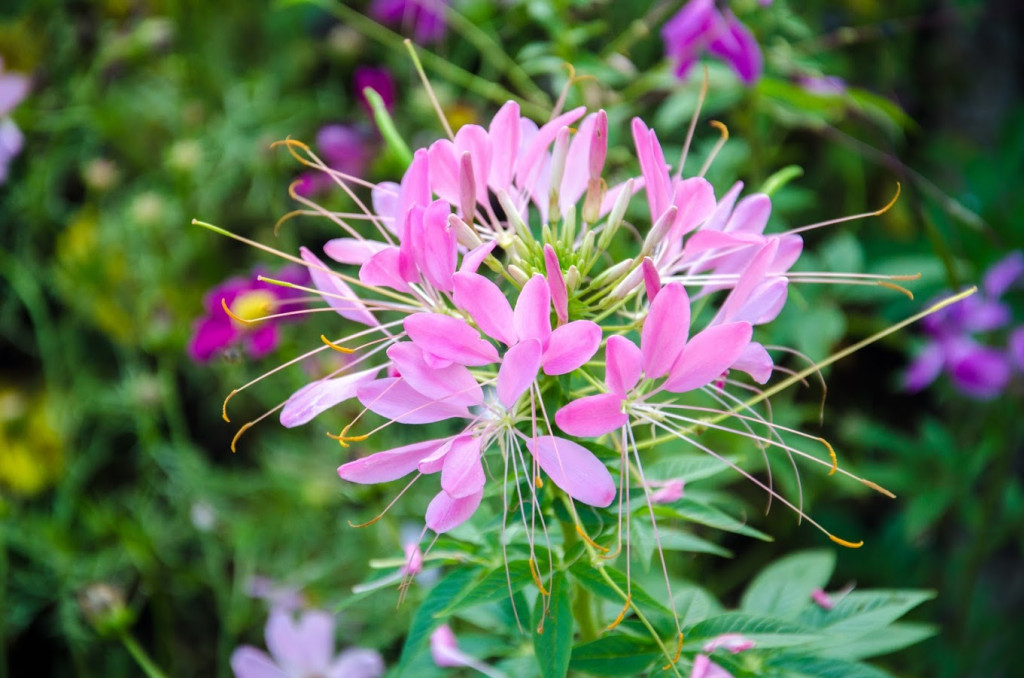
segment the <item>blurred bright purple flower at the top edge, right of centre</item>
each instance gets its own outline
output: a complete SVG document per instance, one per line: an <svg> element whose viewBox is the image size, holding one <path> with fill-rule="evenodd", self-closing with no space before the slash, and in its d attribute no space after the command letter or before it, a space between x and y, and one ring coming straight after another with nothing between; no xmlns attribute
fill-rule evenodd
<svg viewBox="0 0 1024 678"><path fill-rule="evenodd" d="M748 85L761 77L764 65L754 34L731 11L719 11L714 0L686 3L662 29L662 40L679 78L705 50L726 61Z"/></svg>

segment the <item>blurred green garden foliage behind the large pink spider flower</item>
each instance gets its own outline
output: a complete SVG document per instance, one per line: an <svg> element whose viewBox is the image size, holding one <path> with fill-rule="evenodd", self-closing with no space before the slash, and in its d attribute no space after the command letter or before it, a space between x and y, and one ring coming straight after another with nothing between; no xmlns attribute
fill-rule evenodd
<svg viewBox="0 0 1024 678"><path fill-rule="evenodd" d="M410 146L442 133L400 45L412 27L392 33L358 19L365 3L348 4L2 3L3 68L27 75L31 92L11 113L25 143L0 186L0 676L137 675L104 633L103 601L119 598L125 623L170 675L227 675L230 651L261 636L265 606L247 590L254 576L338 610L352 644L385 658L400 646L415 607L350 589L371 558L400 556L402 528L419 528L424 500L403 501L374 527L349 526L392 497L335 474L349 452L324 433L352 413L293 430L271 416L230 451L240 424L332 364L275 374L231 400L231 424L221 419L232 388L318 342L323 316L282 326L264 357L236 347L200 364L186 348L207 290L282 265L190 225L194 217L290 253L332 236L308 218L275 231L295 209L288 187L303 168L271 142L314 143L322 127L341 124L368 179L399 176L359 103L357 69L391 74L393 117ZM701 76L675 78L656 30L681 4L457 1L446 35L427 47L438 55L427 71L458 125L489 118L504 96L496 83L535 115L549 110L572 63L583 77L570 101L608 110L609 163L622 164L628 154L614 149L630 143L632 115L676 147L685 134ZM719 193L736 178L757 188L799 166L773 195L777 229L878 209L899 181L900 200L884 215L809 234L802 265L921 273L907 283L913 300L881 288L799 288L773 330L778 343L822 358L1024 249L1018 3L732 5L766 69L745 87L708 61L703 117L731 132L709 178ZM802 84L817 76L845 87ZM716 138L698 132L698 156ZM337 193L316 199L351 208ZM1021 284L1002 299L1010 327L1024 323ZM1002 348L1008 331L980 339ZM806 501L866 543L838 552L834 582L936 592L911 618L937 633L881 665L899 676L1016 675L1024 378L1015 372L984 399L944 375L907 392L903 372L927 341L911 328L825 374L821 434L898 499L805 477ZM813 421L820 397L812 383L776 408ZM715 535L733 557L679 564L723 600L781 554L831 548L790 513L765 516L755 488L728 488L775 541Z"/></svg>

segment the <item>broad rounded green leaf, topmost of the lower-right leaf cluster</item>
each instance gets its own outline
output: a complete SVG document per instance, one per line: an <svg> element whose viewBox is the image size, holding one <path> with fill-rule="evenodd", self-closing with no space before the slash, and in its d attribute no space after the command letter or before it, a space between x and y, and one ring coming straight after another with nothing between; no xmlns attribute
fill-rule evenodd
<svg viewBox="0 0 1024 678"><path fill-rule="evenodd" d="M811 602L814 589L828 584L834 551L803 551L765 567L743 592L739 607L755 615L794 619Z"/></svg>

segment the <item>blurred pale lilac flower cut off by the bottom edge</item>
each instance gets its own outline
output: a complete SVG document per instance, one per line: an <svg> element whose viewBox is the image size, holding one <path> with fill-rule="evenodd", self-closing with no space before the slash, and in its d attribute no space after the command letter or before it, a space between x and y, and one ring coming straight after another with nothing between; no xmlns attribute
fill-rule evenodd
<svg viewBox="0 0 1024 678"><path fill-rule="evenodd" d="M266 622L267 654L251 645L231 653L237 678L377 678L384 660L372 649L351 647L334 654L334 617L311 609L298 620L283 609Z"/></svg>

